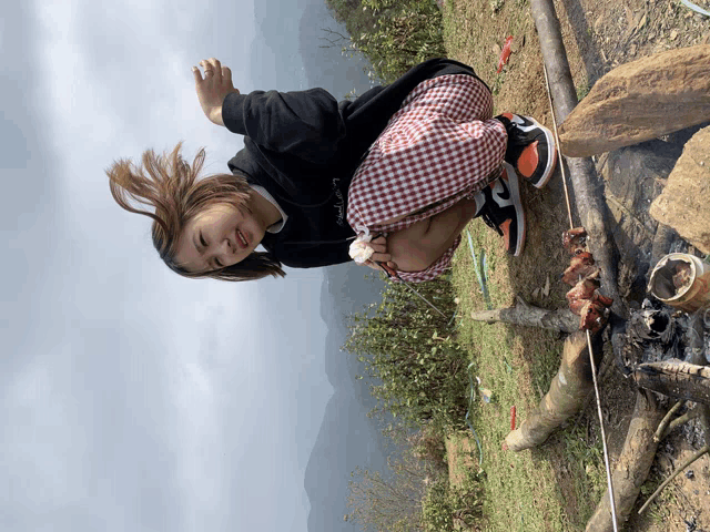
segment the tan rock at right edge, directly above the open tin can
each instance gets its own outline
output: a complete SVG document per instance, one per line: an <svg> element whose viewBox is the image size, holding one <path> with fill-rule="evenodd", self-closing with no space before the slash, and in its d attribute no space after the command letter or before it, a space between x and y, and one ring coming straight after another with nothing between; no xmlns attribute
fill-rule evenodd
<svg viewBox="0 0 710 532"><path fill-rule="evenodd" d="M710 253L710 126L688 141L649 212L702 253Z"/></svg>

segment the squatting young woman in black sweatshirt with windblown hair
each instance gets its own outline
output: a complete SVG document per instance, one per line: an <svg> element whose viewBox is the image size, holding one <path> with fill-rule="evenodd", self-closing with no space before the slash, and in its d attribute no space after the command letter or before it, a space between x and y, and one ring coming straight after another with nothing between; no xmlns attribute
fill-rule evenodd
<svg viewBox="0 0 710 532"><path fill-rule="evenodd" d="M201 65L204 75L193 74L203 112L244 135L231 173L199 178L204 151L189 164L180 144L106 171L119 205L153 218L153 244L179 274L283 276L282 265L347 262L355 236L369 235L368 265L426 280L448 267L476 216L521 252L516 171L544 186L555 143L531 119L493 119L490 91L469 66L430 60L338 103L322 89L241 94L220 61Z"/></svg>

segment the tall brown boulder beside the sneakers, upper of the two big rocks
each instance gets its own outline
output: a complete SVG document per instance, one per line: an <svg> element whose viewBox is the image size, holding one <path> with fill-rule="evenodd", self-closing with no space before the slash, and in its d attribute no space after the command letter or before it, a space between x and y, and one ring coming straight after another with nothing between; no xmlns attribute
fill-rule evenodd
<svg viewBox="0 0 710 532"><path fill-rule="evenodd" d="M560 151L587 157L710 120L710 45L658 53L601 78L559 126Z"/></svg>

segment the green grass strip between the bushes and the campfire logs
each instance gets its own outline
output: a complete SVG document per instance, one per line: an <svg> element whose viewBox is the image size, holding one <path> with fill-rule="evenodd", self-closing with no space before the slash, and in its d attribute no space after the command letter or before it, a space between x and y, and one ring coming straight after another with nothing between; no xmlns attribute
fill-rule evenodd
<svg viewBox="0 0 710 532"><path fill-rule="evenodd" d="M476 253L486 250L488 256L493 306L511 305L510 263L499 237L477 222L469 231ZM589 441L586 426L571 427L572 421L534 451L514 453L500 447L510 430L510 407L516 406L523 420L547 392L559 366L561 342L546 331L467 317L485 304L466 242L455 256L453 282L459 298L458 339L468 349L481 386L493 391L491 402L478 400L473 412L484 453L486 530L584 529L606 488L601 446Z"/></svg>

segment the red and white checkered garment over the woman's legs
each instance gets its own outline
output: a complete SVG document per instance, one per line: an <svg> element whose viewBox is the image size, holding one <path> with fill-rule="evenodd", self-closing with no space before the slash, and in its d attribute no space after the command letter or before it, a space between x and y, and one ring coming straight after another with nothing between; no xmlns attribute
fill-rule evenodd
<svg viewBox="0 0 710 532"><path fill-rule="evenodd" d="M474 196L499 175L506 152L505 126L491 116L490 91L476 78L443 75L419 83L353 177L351 227L358 235L387 235ZM397 274L413 283L437 277L459 242L427 269Z"/></svg>

